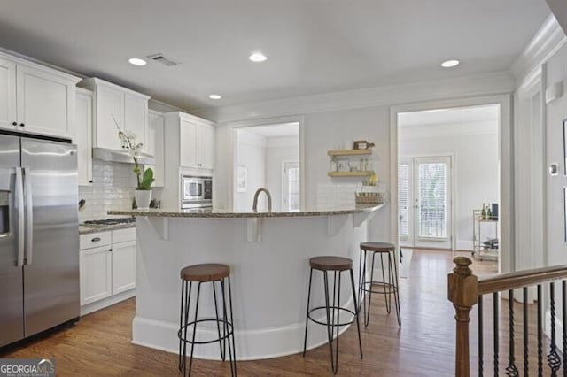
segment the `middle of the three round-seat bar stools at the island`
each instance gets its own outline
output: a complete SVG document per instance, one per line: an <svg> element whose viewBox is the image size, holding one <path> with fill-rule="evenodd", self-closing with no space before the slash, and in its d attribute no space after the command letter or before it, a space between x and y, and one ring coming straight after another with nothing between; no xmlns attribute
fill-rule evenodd
<svg viewBox="0 0 567 377"><path fill-rule="evenodd" d="M358 313L359 308L356 304L356 291L354 289L354 274L353 274L353 260L349 258L342 258L342 257L314 257L309 259L309 265L311 267L311 271L309 273L309 290L307 293L307 314L305 319L305 338L303 341L303 357L305 358L305 352L307 350L307 324L309 320L313 322L323 325L327 327L327 337L329 339L329 346L330 346L330 367L333 373L337 374L338 371L338 329L341 326L350 325L356 320L356 328L358 330L358 343L361 350L361 358L362 358L362 342L361 342L361 327L358 322ZM309 302L311 300L311 281L313 278L313 270L322 271L322 277L324 282L324 289L325 289L325 306L317 306L311 310L309 310ZM343 271L350 271L351 274L351 286L353 289L353 301L354 301L354 309L350 310L347 308L340 307L340 274ZM329 278L328 272L331 271L334 273L333 276L333 301L332 304L329 302ZM337 279L338 273L338 279ZM311 313L324 309L327 312L327 321L321 322L317 319L314 319L311 316ZM354 319L349 322L340 322L339 314L341 311L350 312L354 315ZM332 312L332 314L331 314ZM335 324L335 316L337 316L337 322ZM337 328L337 346L335 349L335 354L333 355L333 339L335 337L335 327Z"/></svg>

